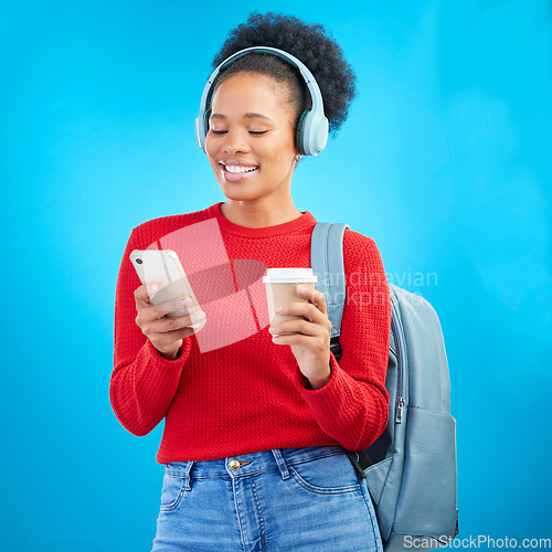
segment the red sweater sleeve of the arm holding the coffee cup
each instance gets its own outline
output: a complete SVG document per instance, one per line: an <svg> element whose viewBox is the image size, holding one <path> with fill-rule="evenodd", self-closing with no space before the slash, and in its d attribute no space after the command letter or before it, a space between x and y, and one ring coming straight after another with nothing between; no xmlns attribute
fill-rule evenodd
<svg viewBox="0 0 552 552"><path fill-rule="evenodd" d="M330 380L318 390L296 385L320 428L349 450L369 447L389 416L385 375L389 361L391 297L375 242L347 230L343 236L346 304L342 357L330 353Z"/></svg>

